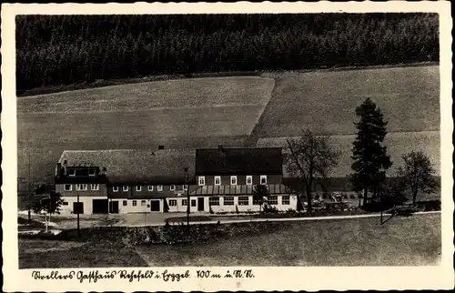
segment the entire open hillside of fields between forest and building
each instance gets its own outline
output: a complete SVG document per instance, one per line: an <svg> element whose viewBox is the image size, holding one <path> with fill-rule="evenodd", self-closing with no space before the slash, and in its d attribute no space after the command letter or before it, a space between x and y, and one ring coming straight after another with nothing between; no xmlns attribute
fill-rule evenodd
<svg viewBox="0 0 455 293"><path fill-rule="evenodd" d="M52 179L64 149L241 147L251 141L279 146L279 137L298 136L304 126L335 135L332 143L342 156L333 176L345 177L354 109L366 96L389 120L386 144L394 162L422 149L439 171L438 71L439 66L410 66L277 72L19 97L19 181L26 180L28 153L32 178L42 181Z"/></svg>

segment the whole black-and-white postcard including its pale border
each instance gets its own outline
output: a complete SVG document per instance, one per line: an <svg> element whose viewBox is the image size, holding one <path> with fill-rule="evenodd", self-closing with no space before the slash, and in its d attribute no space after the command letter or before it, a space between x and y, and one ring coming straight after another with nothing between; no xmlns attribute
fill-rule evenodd
<svg viewBox="0 0 455 293"><path fill-rule="evenodd" d="M270 267L451 266L450 16L173 5L14 16L15 269L81 290L122 274L246 284ZM207 270L177 269L190 267Z"/></svg>

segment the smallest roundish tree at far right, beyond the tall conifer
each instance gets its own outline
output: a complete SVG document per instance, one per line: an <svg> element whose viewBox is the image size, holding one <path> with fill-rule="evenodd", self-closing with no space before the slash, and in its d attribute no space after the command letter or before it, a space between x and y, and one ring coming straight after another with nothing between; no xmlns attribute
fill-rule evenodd
<svg viewBox="0 0 455 293"><path fill-rule="evenodd" d="M420 192L431 193L439 186L435 177L435 169L430 158L422 151L411 151L402 157L404 166L399 167L399 177L403 187L410 190L412 204L415 205Z"/></svg>

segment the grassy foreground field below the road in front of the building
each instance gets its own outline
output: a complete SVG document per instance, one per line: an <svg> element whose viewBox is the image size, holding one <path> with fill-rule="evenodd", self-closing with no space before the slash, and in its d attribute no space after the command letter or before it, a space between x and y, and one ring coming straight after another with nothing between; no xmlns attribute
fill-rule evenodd
<svg viewBox="0 0 455 293"><path fill-rule="evenodd" d="M428 266L440 261L440 214L394 217L382 226L379 217L279 225L259 235L172 246L19 238L19 266Z"/></svg>

